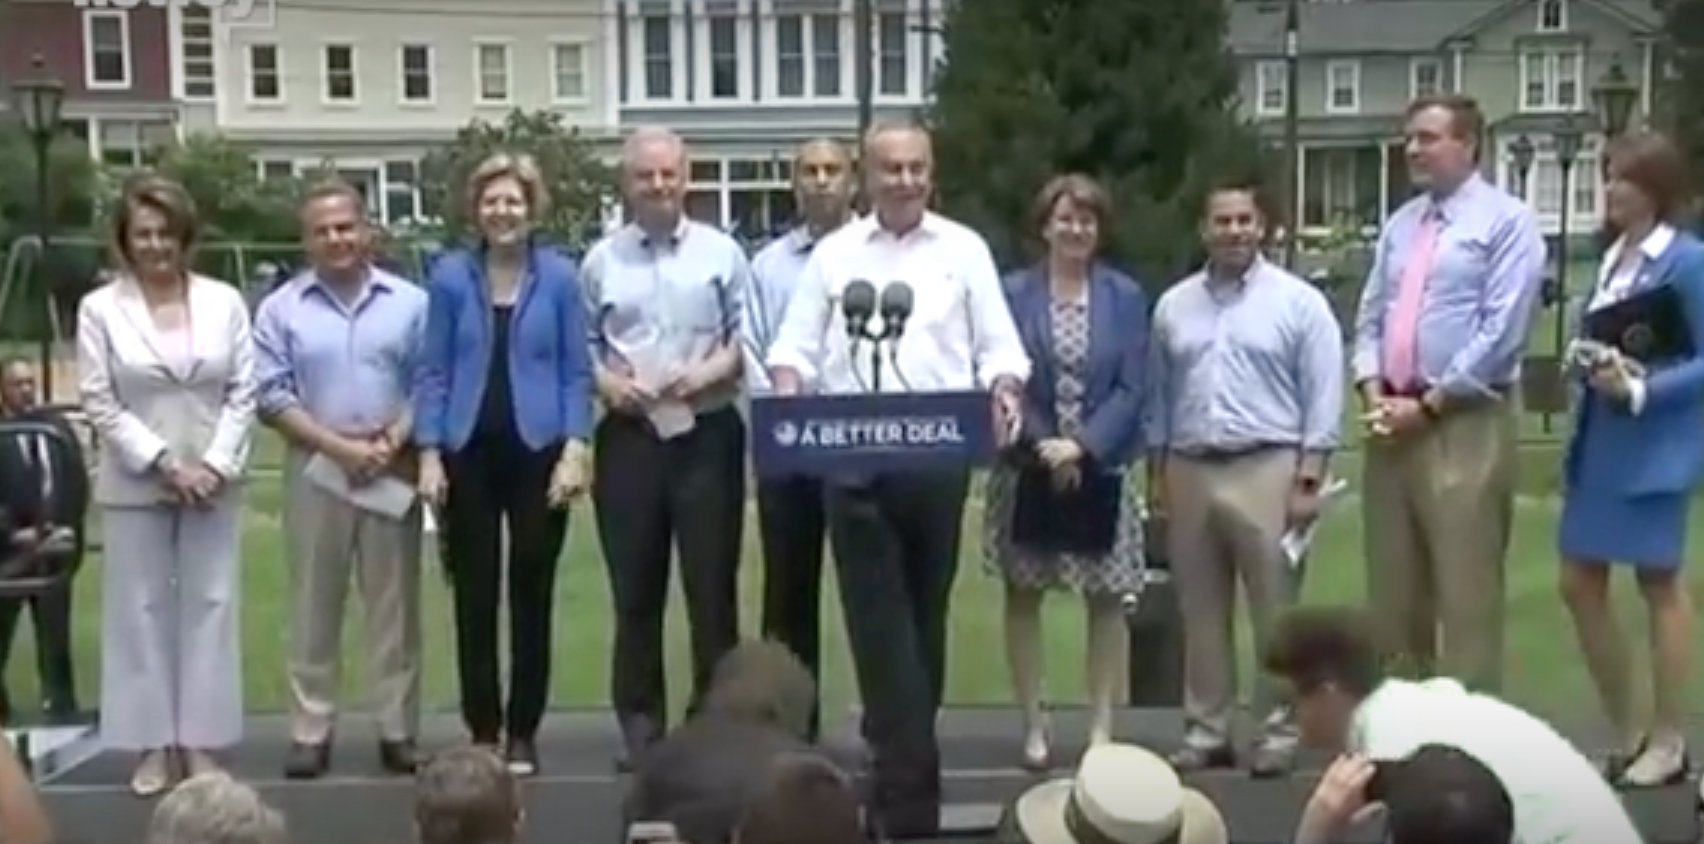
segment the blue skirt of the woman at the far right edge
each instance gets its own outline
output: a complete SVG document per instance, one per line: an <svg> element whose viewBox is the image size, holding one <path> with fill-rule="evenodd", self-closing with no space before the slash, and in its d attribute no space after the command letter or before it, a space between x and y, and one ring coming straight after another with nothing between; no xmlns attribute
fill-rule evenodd
<svg viewBox="0 0 1704 844"><path fill-rule="evenodd" d="M1590 435L1590 419L1576 433L1574 477L1563 496L1557 547L1563 559L1621 563L1641 571L1675 571L1687 554L1687 493L1621 493L1626 472Z"/></svg>

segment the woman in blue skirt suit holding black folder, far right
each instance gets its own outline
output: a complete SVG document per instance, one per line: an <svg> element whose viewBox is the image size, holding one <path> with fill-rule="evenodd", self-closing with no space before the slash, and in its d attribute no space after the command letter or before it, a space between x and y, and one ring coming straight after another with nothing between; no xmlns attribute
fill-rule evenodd
<svg viewBox="0 0 1704 844"><path fill-rule="evenodd" d="M1624 786L1677 783L1687 772L1692 604L1680 569L1687 515L1704 481L1704 244L1672 223L1687 206L1685 184L1680 153L1661 135L1610 147L1605 199L1621 239L1603 254L1583 322L1621 302L1658 302L1682 312L1690 343L1644 360L1614 341L1576 341L1569 351L1585 392L1563 472L1561 590L1603 709L1626 740L1607 771ZM1649 720L1632 713L1632 660L1609 602L1614 564L1632 569L1651 616Z"/></svg>

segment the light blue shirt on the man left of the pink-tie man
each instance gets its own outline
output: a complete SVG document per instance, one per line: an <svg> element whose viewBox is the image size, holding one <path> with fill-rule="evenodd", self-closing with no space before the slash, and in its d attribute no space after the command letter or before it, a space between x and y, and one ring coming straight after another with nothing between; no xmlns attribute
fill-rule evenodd
<svg viewBox="0 0 1704 844"><path fill-rule="evenodd" d="M1331 452L1343 433L1343 329L1326 297L1268 261L1196 273L1154 307L1148 447Z"/></svg>

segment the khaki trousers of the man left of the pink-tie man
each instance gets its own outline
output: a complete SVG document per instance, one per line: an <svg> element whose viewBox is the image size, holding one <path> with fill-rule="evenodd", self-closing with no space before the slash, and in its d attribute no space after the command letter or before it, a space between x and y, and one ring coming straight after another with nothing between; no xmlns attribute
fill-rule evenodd
<svg viewBox="0 0 1704 844"><path fill-rule="evenodd" d="M1290 448L1166 459L1166 546L1184 622L1184 740L1193 747L1230 740L1237 581L1256 650L1264 650L1276 614L1295 602L1300 576L1280 547L1295 460ZM1276 684L1256 680L1252 711L1263 718L1268 747L1295 742Z"/></svg>

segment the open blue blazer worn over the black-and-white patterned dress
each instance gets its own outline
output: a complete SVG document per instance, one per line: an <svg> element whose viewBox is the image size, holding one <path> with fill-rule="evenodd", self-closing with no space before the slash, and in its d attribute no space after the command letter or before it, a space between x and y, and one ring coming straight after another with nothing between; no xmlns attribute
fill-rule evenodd
<svg viewBox="0 0 1704 844"><path fill-rule="evenodd" d="M1058 436L1058 373L1053 314L1043 268L1005 280L1005 298L1034 365L1024 385L1024 435ZM1130 276L1096 264L1089 276L1089 377L1077 440L1102 469L1135 460L1142 447L1142 380L1148 346L1148 298Z"/></svg>

